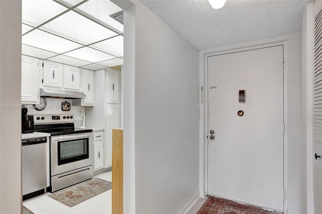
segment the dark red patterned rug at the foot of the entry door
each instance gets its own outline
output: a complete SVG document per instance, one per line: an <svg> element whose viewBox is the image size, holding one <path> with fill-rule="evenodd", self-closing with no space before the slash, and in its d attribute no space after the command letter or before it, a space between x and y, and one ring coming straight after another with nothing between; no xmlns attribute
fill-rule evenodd
<svg viewBox="0 0 322 214"><path fill-rule="evenodd" d="M270 214L271 212L256 206L236 203L230 200L209 196L197 214Z"/></svg>

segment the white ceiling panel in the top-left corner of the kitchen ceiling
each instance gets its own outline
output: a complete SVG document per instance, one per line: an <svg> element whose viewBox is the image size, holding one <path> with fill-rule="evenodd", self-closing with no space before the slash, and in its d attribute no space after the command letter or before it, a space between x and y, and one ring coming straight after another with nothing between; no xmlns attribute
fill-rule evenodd
<svg viewBox="0 0 322 214"><path fill-rule="evenodd" d="M23 0L22 22L36 27L66 10L51 0Z"/></svg>

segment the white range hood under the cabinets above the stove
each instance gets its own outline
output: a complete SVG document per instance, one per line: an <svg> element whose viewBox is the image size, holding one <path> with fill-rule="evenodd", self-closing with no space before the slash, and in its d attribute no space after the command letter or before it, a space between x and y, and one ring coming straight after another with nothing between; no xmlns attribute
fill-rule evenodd
<svg viewBox="0 0 322 214"><path fill-rule="evenodd" d="M86 98L86 94L79 91L66 91L51 88L40 88L40 96L50 98L65 98L65 99L82 99Z"/></svg>

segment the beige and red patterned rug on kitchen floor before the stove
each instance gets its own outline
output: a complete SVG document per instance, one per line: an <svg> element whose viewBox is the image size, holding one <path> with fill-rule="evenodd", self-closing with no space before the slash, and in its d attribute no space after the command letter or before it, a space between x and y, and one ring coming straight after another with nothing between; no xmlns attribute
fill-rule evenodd
<svg viewBox="0 0 322 214"><path fill-rule="evenodd" d="M94 178L48 195L67 206L74 206L112 188L112 182Z"/></svg>

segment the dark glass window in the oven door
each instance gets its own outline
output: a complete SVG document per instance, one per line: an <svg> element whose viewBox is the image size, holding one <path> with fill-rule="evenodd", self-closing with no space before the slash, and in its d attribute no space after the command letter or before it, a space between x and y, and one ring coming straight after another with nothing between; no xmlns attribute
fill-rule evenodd
<svg viewBox="0 0 322 214"><path fill-rule="evenodd" d="M59 141L58 165L89 158L89 139Z"/></svg>

